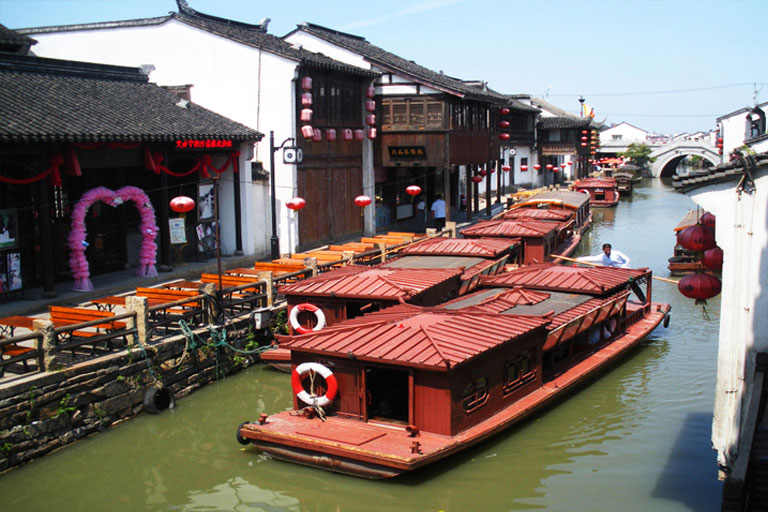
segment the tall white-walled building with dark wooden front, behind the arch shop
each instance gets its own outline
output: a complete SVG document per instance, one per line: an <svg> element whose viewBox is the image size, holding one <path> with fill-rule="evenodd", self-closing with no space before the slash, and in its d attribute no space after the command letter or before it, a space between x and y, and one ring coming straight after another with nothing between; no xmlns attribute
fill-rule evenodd
<svg viewBox="0 0 768 512"><path fill-rule="evenodd" d="M265 134L274 132L276 146L283 142L287 146L304 145L305 140L299 133L300 75L340 73L349 77L358 91L353 106L359 113L356 119L349 121L349 127L363 128L365 98L359 91L365 90L372 73L293 47L267 33L268 19L257 25L241 23L199 13L189 8L184 0L177 2L179 12L163 17L41 27L19 32L38 41L35 52L39 56L147 66L152 69L152 82L163 86L191 86L195 103ZM281 151L270 154L267 137L257 144L253 155L254 170L265 169L265 172L261 176L258 172L252 174L251 169L239 173L242 216L246 226L244 252L256 257L270 253L273 235L271 193L269 181L264 179L269 171L275 176L281 253L292 252L302 243L343 238L363 231L360 209L353 204L353 198L363 193L373 197L373 167L370 141L356 144L362 145L362 153L368 157L361 158L361 150L356 149L351 151L353 163L349 162L349 153L346 162L348 167L357 168L347 171L360 183L348 184L349 190L331 187L333 190L327 194L324 192L322 197L312 199L309 195L317 190L313 185L314 176L321 174L315 172L318 166L309 169L305 162L304 168L309 170L301 175L297 170L301 166L283 163ZM305 146L307 157L311 156L310 149ZM272 156L275 157L274 169L269 168ZM322 180L327 180L325 175ZM301 214L296 214L285 204L300 194L306 196L307 207ZM331 201L336 205L335 215L327 213L327 204L320 204ZM372 209L366 210L365 231L372 232L375 229ZM321 215L320 212L325 213ZM298 219L301 218L312 220L300 223ZM327 224L320 219L327 220ZM272 249L274 253L274 246Z"/></svg>

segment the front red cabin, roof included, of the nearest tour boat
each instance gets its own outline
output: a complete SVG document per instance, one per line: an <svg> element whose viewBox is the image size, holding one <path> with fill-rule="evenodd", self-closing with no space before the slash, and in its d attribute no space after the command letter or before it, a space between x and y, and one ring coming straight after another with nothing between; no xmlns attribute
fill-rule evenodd
<svg viewBox="0 0 768 512"><path fill-rule="evenodd" d="M326 414L452 436L541 386L547 323L410 306L285 344L294 367L320 362L332 369L338 398ZM525 373L514 374L516 366ZM295 398L296 409L306 405Z"/></svg>

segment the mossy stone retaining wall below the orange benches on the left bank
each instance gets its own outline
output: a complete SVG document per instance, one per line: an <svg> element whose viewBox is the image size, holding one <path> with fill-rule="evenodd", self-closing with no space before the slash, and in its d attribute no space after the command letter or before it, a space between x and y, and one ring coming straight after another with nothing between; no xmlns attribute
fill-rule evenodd
<svg viewBox="0 0 768 512"><path fill-rule="evenodd" d="M243 348L251 332L241 320L228 326L227 339L232 346ZM207 330L198 334L208 337ZM146 350L133 345L4 386L0 389L0 471L144 412L145 396L153 387L167 388L178 400L258 360L215 347L210 340L192 351L185 347L183 336L146 346Z"/></svg>

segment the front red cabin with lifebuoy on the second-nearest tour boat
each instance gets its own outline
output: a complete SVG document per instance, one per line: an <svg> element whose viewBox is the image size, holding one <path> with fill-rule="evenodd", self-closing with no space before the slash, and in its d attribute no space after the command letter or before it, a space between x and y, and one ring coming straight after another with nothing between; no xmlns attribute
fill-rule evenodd
<svg viewBox="0 0 768 512"><path fill-rule="evenodd" d="M397 260L395 260L397 261ZM348 265L281 286L291 334L321 329L400 302L432 306L456 297L463 267Z"/></svg>

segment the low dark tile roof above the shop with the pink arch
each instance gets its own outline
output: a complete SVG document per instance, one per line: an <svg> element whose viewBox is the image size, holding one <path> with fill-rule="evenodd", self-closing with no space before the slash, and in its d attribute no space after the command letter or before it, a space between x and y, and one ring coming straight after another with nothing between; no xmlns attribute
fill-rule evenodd
<svg viewBox="0 0 768 512"><path fill-rule="evenodd" d="M100 71L107 78L95 78ZM0 142L245 142L263 136L194 103L179 103L138 68L0 53Z"/></svg>

